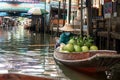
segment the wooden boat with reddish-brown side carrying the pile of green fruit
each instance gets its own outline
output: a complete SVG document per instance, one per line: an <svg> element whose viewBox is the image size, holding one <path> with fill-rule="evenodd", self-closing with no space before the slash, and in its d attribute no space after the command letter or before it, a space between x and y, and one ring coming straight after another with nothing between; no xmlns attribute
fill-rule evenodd
<svg viewBox="0 0 120 80"><path fill-rule="evenodd" d="M59 52L57 48L54 58L70 68L92 73L107 71L120 62L120 55L113 50L65 53Z"/></svg>

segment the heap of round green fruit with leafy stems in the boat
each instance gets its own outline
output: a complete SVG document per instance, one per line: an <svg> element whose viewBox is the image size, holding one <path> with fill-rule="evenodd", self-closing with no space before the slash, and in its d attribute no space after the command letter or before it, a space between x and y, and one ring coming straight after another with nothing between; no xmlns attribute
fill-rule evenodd
<svg viewBox="0 0 120 80"><path fill-rule="evenodd" d="M68 52L87 52L89 50L98 50L94 45L94 39L90 36L73 36L64 46L63 51Z"/></svg>

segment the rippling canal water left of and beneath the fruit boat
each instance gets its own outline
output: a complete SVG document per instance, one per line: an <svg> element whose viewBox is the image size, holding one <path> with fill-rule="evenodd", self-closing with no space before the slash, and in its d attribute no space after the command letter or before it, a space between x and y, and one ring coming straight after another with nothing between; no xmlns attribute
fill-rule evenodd
<svg viewBox="0 0 120 80"><path fill-rule="evenodd" d="M0 27L0 73L46 76L55 80L107 80L58 64L53 58L54 34L34 33L23 26Z"/></svg>

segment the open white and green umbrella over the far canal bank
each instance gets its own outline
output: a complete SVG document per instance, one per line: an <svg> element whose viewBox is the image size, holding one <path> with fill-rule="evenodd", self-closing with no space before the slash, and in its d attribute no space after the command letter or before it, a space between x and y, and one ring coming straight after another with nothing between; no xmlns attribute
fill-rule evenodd
<svg viewBox="0 0 120 80"><path fill-rule="evenodd" d="M48 14L48 12L45 9L41 9L40 7L33 7L28 10L28 14L43 15L43 14Z"/></svg>

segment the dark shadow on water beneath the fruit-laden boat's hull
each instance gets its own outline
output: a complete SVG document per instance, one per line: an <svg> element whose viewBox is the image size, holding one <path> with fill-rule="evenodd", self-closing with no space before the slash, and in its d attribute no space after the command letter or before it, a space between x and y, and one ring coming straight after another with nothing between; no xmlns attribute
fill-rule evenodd
<svg viewBox="0 0 120 80"><path fill-rule="evenodd" d="M120 80L120 63L114 65L111 69L110 77L108 77L105 72L95 74L85 73L69 68L60 62L56 61L56 63L59 65L65 76L69 77L70 80Z"/></svg>

